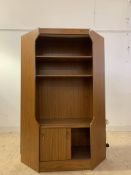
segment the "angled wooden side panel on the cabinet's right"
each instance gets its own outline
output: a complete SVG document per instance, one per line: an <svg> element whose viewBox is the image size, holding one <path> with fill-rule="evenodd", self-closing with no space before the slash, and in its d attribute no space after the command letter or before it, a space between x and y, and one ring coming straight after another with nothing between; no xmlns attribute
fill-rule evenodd
<svg viewBox="0 0 131 175"><path fill-rule="evenodd" d="M91 31L93 42L93 121L91 123L92 168L106 157L104 39Z"/></svg>

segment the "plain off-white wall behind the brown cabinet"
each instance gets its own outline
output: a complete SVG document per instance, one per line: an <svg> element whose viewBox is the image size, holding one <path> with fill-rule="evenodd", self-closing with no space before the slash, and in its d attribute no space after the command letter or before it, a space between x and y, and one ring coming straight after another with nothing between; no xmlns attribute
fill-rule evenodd
<svg viewBox="0 0 131 175"><path fill-rule="evenodd" d="M105 38L109 130L131 130L130 0L0 0L0 130L20 123L21 35L38 27L91 28Z"/></svg>

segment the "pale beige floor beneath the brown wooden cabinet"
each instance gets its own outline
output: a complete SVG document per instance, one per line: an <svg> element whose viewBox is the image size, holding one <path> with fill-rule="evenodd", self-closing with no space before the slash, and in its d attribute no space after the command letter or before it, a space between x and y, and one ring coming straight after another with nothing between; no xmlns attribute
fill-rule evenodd
<svg viewBox="0 0 131 175"><path fill-rule="evenodd" d="M131 132L109 132L107 159L93 171L40 173L41 175L131 175ZM38 175L20 162L18 133L0 134L0 175Z"/></svg>

